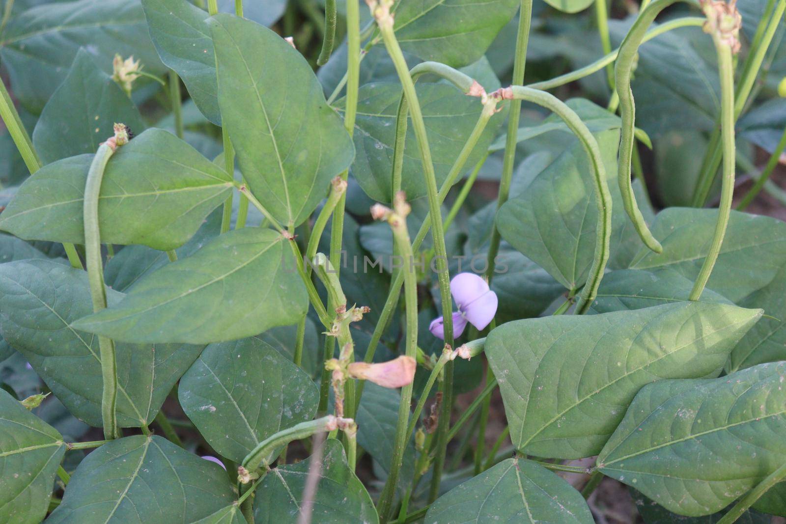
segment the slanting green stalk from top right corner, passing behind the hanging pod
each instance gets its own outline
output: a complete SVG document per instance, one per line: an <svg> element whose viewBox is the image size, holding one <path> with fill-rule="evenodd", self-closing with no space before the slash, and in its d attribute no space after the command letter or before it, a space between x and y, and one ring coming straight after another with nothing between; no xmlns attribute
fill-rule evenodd
<svg viewBox="0 0 786 524"><path fill-rule="evenodd" d="M740 83L734 95L734 123L736 123L736 119L740 117L747 103L748 96L751 94L751 89L758 76L758 71L762 67L767 49L769 49L769 45L773 41L773 36L777 31L780 20L784 16L784 12L786 12L786 0L778 0L773 16L769 19L769 23L767 23L765 17L762 17L762 20L759 22L759 27L762 27L762 24L766 24L766 30L763 31L762 38L756 46L751 47L752 53L748 56L743 66L743 74L740 75ZM757 28L756 31L758 32L758 30L759 28ZM721 119L723 119L723 115L721 115ZM720 134L722 134L722 131ZM720 167L723 158L722 141L723 139L722 137L719 138L718 127L716 126L710 140L710 145L704 156L703 168L700 171L699 178L696 180L696 189L693 192L693 207L703 206L710 196L712 185L718 173L718 167Z"/></svg>

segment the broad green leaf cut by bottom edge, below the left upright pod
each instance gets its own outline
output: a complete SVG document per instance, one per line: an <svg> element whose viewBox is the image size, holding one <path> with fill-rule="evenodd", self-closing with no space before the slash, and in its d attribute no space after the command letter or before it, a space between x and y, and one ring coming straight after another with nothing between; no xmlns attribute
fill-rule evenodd
<svg viewBox="0 0 786 524"><path fill-rule="evenodd" d="M76 468L46 522L194 522L233 503L218 464L155 435L119 438Z"/></svg>

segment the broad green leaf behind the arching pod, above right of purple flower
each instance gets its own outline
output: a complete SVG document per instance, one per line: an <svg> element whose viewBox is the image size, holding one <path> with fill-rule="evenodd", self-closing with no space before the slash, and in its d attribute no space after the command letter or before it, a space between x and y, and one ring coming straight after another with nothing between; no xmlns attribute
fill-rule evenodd
<svg viewBox="0 0 786 524"><path fill-rule="evenodd" d="M615 176L619 130L595 135L601 148L606 176ZM627 217L622 212L616 184L610 184L612 238L617 238ZM578 141L542 170L527 191L508 200L498 211L502 238L541 266L567 289L586 281L595 252L597 207L591 163Z"/></svg>

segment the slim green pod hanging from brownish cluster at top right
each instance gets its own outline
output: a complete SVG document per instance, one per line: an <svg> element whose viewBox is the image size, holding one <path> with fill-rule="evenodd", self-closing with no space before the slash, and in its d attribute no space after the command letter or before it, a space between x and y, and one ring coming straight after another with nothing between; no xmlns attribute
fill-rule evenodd
<svg viewBox="0 0 786 524"><path fill-rule="evenodd" d="M715 49L718 51L718 74L721 77L721 136L723 144L723 179L721 185L721 202L718 204L718 222L715 223L715 233L712 237L710 251L699 271L689 299L698 300L701 297L707 280L710 280L712 268L721 252L726 226L729 225L732 198L734 196L734 68L732 65L732 51L728 44L721 42L713 35Z"/></svg>

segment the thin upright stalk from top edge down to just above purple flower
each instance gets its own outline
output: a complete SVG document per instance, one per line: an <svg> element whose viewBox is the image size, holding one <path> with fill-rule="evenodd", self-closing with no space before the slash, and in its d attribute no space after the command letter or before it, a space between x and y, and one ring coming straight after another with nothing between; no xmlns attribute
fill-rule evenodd
<svg viewBox="0 0 786 524"><path fill-rule="evenodd" d="M516 36L516 56L513 60L512 85L521 86L524 83L524 68L527 64L527 43L530 38L530 27L532 21L532 0L521 0L519 13L519 29ZM505 153L502 157L502 174L499 181L499 193L497 196L497 211L502 204L507 202L510 194L510 183L513 178L513 167L516 163L516 144L519 131L519 120L521 118L521 101L513 99L510 102L510 114L508 116L508 134L505 137ZM487 253L486 280L489 284L494 278L495 258L499 251L501 236L496 227L491 228L491 239Z"/></svg>

